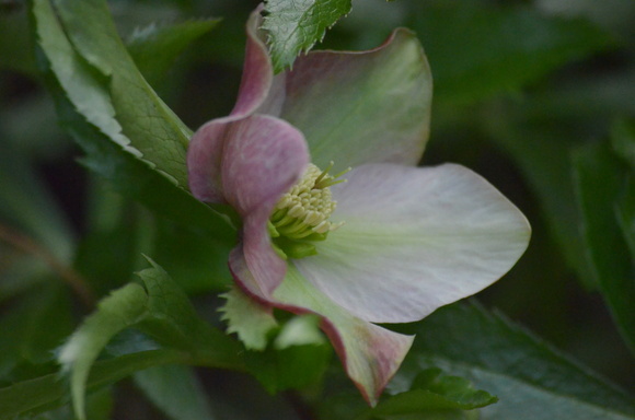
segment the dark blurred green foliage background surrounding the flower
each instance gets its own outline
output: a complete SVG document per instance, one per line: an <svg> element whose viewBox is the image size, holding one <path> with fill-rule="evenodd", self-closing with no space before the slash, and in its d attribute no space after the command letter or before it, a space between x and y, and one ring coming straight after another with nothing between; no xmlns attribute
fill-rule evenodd
<svg viewBox="0 0 635 420"><path fill-rule="evenodd" d="M284 3L272 1L272 12ZM267 27L279 30L278 68L350 5L333 3L337 13L301 43L285 38L298 22L269 15ZM137 67L192 130L231 109L244 22L256 4L109 2ZM527 254L478 304L399 327L418 338L374 410L327 346L247 353L246 366L197 353L196 343L184 355L171 340L206 326L172 325L181 315L152 306L159 301L147 290L135 298L149 305L145 315L130 319L134 329L117 335L122 328L113 327L93 368L89 418L529 419L539 404L545 413L565 410L563 419L635 416L634 21L630 0L354 2L315 48L366 49L396 26L414 30L435 78L422 164L461 163L499 188L532 224ZM55 350L94 300L139 281L134 273L149 267L146 254L166 271L143 271L146 281L158 276L157 284L177 285L200 317L222 328L217 293L231 282L226 260L234 237L208 208L122 155L73 112L54 75L38 71L46 59L36 54L32 24L26 2L0 2L0 401L14 402L0 405L0 419L68 419ZM123 72L128 65L116 63ZM60 281L68 280L64 268L85 279L88 294ZM178 299L190 316L188 299ZM210 331L203 336L213 342ZM240 347L224 336L218 342L220 354ZM305 365L303 376L285 358ZM177 365L136 373L165 363ZM246 373L187 368L254 371L258 363L267 368L255 375L264 386ZM170 383L182 385L162 386ZM301 390L265 390L289 386ZM478 409L494 396L498 402Z"/></svg>

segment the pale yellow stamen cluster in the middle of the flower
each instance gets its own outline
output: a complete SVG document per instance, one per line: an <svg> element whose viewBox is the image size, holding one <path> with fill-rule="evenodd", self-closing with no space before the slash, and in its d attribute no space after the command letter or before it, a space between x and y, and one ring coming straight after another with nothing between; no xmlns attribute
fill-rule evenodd
<svg viewBox="0 0 635 420"><path fill-rule="evenodd" d="M280 198L269 219L275 236L303 240L312 234L326 234L344 224L328 221L336 206L330 187L344 182L336 178L348 171L332 176L328 174L332 167L333 163L320 171L309 164L302 179Z"/></svg>

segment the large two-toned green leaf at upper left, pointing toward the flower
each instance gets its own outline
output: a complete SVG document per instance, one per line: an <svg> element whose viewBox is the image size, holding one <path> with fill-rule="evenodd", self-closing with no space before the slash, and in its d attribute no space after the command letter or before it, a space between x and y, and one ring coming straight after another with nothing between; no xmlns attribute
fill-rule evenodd
<svg viewBox="0 0 635 420"><path fill-rule="evenodd" d="M231 240L227 222L183 189L189 130L136 69L105 2L56 4L34 0L32 13L49 90L84 163L153 211Z"/></svg>

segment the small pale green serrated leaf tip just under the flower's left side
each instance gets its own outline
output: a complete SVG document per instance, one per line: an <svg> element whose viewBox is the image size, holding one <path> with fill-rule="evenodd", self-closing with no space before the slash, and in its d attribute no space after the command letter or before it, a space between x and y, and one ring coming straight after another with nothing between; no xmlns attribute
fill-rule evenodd
<svg viewBox="0 0 635 420"><path fill-rule="evenodd" d="M220 308L221 319L228 323L228 332L235 332L247 349L264 350L267 336L278 326L272 308L261 305L235 285L222 298L227 302Z"/></svg>

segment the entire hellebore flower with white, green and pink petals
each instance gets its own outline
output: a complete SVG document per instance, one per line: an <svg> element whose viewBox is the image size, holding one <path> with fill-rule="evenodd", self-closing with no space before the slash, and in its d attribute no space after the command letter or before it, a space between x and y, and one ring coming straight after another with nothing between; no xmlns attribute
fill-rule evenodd
<svg viewBox="0 0 635 420"><path fill-rule="evenodd" d="M274 77L258 25L256 10L233 110L192 139L189 187L242 219L229 260L240 289L320 316L372 405L413 341L372 323L415 322L492 284L530 226L470 170L415 167L431 77L408 31L369 51L310 52Z"/></svg>

